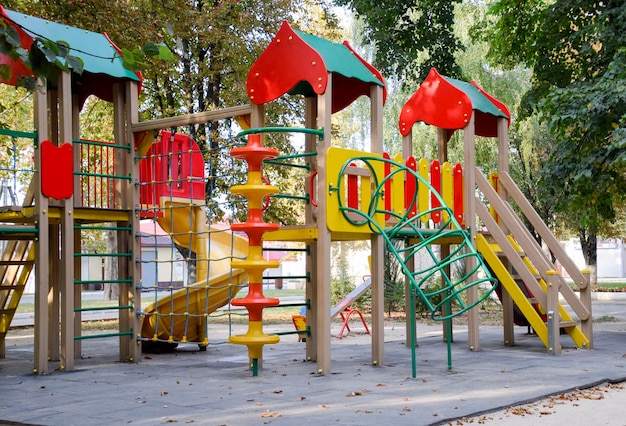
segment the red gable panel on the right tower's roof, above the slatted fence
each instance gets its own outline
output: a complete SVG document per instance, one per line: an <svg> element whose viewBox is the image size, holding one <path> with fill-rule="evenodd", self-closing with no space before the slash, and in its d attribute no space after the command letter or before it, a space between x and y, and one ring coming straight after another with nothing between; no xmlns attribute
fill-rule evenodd
<svg viewBox="0 0 626 426"><path fill-rule="evenodd" d="M442 129L462 129L472 116L472 103L461 90L447 82L435 68L402 108L398 127L403 136L423 121Z"/></svg>

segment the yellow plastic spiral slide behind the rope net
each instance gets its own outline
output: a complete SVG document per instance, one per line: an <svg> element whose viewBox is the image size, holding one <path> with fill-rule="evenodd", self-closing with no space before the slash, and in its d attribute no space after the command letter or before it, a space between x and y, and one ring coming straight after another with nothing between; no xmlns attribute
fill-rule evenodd
<svg viewBox="0 0 626 426"><path fill-rule="evenodd" d="M144 309L141 336L170 343L199 342L200 346L207 346L205 316L226 305L248 281L244 270L231 272L232 257L248 256L248 240L230 231L206 229L202 206L171 203L165 207L164 217L157 221L176 244L196 253L198 282Z"/></svg>

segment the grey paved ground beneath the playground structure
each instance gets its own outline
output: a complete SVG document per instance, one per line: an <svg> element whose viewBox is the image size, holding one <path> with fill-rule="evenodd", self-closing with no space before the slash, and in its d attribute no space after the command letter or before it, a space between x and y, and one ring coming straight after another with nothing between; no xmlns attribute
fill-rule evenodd
<svg viewBox="0 0 626 426"><path fill-rule="evenodd" d="M596 327L593 350L578 350L563 336L560 356L547 355L522 327L515 347L502 346L501 327L481 327L481 351L472 352L466 328L455 326L451 371L441 326L420 324L415 379L404 327L393 323L385 329L384 366L371 365L371 338L355 322L355 332L332 339L333 371L323 376L305 360L296 336L282 336L265 347L263 368L252 377L246 348L225 343L225 326L210 328L206 352L187 346L145 354L136 364L117 362L113 338L87 340L76 371L43 377L30 374L32 346L9 338L7 358L0 360L0 419L43 425L463 424L456 419L626 380L626 301L594 301L594 318L609 316L614 321ZM266 329L281 327L288 328ZM333 333L338 329L333 325ZM623 413L626 392L617 395L616 405L602 406L591 423L620 424L611 416ZM578 420L594 410L593 402ZM511 416L501 416L490 421L512 424Z"/></svg>

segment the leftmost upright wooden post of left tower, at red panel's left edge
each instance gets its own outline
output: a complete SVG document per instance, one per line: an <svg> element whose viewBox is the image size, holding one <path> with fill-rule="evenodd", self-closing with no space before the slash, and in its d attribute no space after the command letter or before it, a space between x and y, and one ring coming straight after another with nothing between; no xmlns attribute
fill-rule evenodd
<svg viewBox="0 0 626 426"><path fill-rule="evenodd" d="M41 193L41 150L39 145L48 137L48 108L46 85L37 83L35 96L35 128L37 129L37 145L35 149L35 214L38 226L38 238L35 242L35 347L34 366L35 374L48 372L48 278L50 264L48 262L48 199Z"/></svg>

